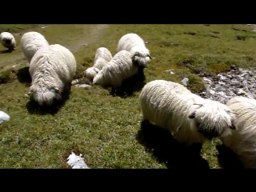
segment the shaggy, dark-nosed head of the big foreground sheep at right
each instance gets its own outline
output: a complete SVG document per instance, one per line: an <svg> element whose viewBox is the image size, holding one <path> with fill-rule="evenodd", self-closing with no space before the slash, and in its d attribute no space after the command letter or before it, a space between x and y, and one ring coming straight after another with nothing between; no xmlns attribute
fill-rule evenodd
<svg viewBox="0 0 256 192"><path fill-rule="evenodd" d="M204 104L194 104L200 106L189 114L188 118L194 119L198 132L204 137L223 138L231 134L231 130L236 130L234 119L236 115L228 106L206 99Z"/></svg>

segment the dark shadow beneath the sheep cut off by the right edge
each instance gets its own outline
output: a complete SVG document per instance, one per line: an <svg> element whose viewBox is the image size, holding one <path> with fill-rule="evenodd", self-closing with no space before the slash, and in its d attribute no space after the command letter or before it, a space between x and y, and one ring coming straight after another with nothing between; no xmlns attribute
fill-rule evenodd
<svg viewBox="0 0 256 192"><path fill-rule="evenodd" d="M237 155L226 146L216 146L218 150L218 163L222 169L244 169L242 162L238 159Z"/></svg>

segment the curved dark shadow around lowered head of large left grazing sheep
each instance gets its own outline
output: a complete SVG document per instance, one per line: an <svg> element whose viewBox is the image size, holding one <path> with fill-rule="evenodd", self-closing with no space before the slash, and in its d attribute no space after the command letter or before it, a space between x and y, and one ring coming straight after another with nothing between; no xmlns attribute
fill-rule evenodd
<svg viewBox="0 0 256 192"><path fill-rule="evenodd" d="M70 98L71 86L66 88L62 93L62 100L54 100L53 105L51 106L39 106L38 102L35 102L33 98L30 98L30 101L26 103L26 109L30 114L57 114L58 110L65 106L66 101Z"/></svg>

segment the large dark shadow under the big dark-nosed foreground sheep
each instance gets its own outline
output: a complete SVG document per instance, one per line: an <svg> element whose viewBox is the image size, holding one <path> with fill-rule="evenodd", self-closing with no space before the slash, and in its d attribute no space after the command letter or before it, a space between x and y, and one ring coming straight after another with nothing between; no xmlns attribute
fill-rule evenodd
<svg viewBox="0 0 256 192"><path fill-rule="evenodd" d="M183 146L173 138L170 131L154 126L148 121L142 122L136 139L158 162L163 162L169 169L210 169L208 162L200 154L201 144Z"/></svg>

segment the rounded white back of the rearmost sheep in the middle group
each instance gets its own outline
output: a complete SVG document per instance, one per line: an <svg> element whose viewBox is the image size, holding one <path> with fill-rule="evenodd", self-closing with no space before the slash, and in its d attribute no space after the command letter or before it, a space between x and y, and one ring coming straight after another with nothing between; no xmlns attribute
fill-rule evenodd
<svg viewBox="0 0 256 192"><path fill-rule="evenodd" d="M145 46L145 43L138 34L125 34L118 42L118 51L130 51L134 46Z"/></svg>

